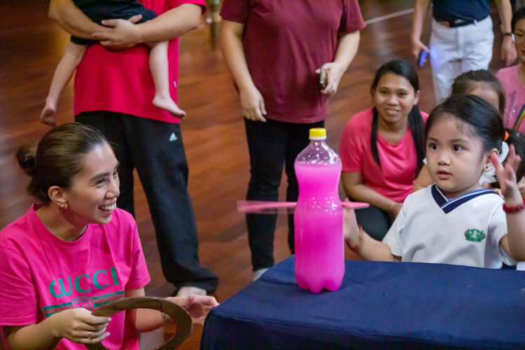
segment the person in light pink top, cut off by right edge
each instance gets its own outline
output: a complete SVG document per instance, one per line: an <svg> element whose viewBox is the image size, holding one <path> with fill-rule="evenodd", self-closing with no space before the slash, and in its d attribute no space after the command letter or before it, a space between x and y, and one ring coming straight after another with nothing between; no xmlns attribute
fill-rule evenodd
<svg viewBox="0 0 525 350"><path fill-rule="evenodd" d="M521 63L498 71L507 105L503 113L505 127L525 134L525 8L512 15L512 37Z"/></svg>

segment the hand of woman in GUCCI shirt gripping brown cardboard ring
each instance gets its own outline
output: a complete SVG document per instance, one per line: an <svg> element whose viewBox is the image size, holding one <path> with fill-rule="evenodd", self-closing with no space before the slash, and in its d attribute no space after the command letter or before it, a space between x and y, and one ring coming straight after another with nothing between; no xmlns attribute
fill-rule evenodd
<svg viewBox="0 0 525 350"><path fill-rule="evenodd" d="M106 332L111 318L93 316L83 308L68 309L52 314L51 334L53 337L66 338L79 344L96 344L109 336Z"/></svg>

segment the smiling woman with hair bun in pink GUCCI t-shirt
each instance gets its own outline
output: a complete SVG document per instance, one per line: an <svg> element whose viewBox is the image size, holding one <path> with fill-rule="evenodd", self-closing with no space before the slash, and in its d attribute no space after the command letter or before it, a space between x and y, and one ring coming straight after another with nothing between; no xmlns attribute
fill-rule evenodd
<svg viewBox="0 0 525 350"><path fill-rule="evenodd" d="M139 349L137 332L171 318L151 309L108 317L91 311L144 296L150 281L137 225L116 207L118 161L94 127L55 127L22 146L18 163L38 199L0 231L0 326L6 349ZM214 297L169 297L203 323Z"/></svg>

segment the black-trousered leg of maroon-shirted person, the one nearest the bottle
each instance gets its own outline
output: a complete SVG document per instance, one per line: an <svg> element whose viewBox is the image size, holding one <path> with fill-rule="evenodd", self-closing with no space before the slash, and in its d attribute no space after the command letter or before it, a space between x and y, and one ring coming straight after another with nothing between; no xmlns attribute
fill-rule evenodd
<svg viewBox="0 0 525 350"><path fill-rule="evenodd" d="M311 124L287 123L288 146L286 147L286 176L288 177L288 187L286 188L286 202L297 202L299 197L299 185L295 177L295 158L306 148L309 143L309 132L313 127L324 127L325 122ZM293 214L288 214L288 246L290 252L295 253L295 225Z"/></svg>

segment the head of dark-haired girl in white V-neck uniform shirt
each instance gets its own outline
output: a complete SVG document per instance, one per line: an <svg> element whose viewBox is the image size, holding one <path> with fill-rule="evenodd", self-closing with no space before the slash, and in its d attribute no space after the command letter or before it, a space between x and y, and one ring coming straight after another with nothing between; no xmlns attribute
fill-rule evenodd
<svg viewBox="0 0 525 350"><path fill-rule="evenodd" d="M505 129L500 113L473 95L452 95L426 121L426 159L433 181L449 198L482 188L479 178L501 150Z"/></svg>

